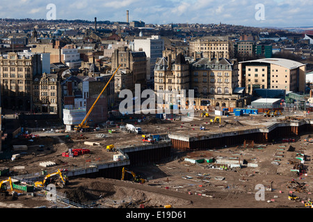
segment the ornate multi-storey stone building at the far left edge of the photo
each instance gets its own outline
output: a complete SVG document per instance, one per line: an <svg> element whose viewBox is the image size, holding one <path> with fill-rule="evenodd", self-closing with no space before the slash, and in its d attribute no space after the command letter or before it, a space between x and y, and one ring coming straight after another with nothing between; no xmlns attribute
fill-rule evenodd
<svg viewBox="0 0 313 222"><path fill-rule="evenodd" d="M0 56L1 106L13 110L33 110L33 78L49 70L42 54L29 51Z"/></svg>

